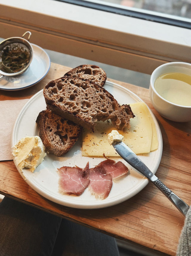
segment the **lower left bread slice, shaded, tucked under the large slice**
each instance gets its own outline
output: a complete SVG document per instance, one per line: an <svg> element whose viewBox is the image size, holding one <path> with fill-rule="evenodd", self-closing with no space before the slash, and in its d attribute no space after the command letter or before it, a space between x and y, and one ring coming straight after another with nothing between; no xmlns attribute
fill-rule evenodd
<svg viewBox="0 0 191 256"><path fill-rule="evenodd" d="M48 153L62 156L67 153L78 140L82 127L62 118L51 110L43 110L38 114L39 137Z"/></svg>

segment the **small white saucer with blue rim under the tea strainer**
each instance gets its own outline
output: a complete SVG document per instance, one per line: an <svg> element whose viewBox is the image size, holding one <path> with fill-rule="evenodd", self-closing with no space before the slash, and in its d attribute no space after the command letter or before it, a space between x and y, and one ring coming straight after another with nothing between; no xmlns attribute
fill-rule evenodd
<svg viewBox="0 0 191 256"><path fill-rule="evenodd" d="M19 76L3 76L0 79L0 89L4 91L19 91L31 87L41 81L50 69L50 58L40 46L31 43L33 60L29 68Z"/></svg>

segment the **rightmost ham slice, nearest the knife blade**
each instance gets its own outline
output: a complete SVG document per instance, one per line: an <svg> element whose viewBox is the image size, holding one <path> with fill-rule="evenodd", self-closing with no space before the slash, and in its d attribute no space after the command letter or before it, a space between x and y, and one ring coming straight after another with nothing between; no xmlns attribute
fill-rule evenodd
<svg viewBox="0 0 191 256"><path fill-rule="evenodd" d="M105 155L104 155L105 157ZM98 166L104 169L107 173L111 174L112 179L121 177L128 172L128 168L121 161L115 162L112 159L105 157L106 160L98 164Z"/></svg>

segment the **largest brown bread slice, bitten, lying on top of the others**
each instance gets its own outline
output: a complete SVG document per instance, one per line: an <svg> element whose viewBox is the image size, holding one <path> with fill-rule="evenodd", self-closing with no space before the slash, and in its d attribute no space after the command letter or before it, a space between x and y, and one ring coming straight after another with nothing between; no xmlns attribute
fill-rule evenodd
<svg viewBox="0 0 191 256"><path fill-rule="evenodd" d="M93 131L96 121L108 119L119 130L129 128L134 117L129 105L120 106L108 91L89 80L63 76L49 82L43 93L49 109Z"/></svg>

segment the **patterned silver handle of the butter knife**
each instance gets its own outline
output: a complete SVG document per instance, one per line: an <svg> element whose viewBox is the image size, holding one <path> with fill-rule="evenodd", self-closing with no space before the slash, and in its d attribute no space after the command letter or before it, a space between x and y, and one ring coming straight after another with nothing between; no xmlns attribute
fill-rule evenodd
<svg viewBox="0 0 191 256"><path fill-rule="evenodd" d="M173 193L167 186L165 186L159 179L153 182L155 186L160 189L164 195L175 205L175 207L184 215L189 209L189 206L179 198L175 193Z"/></svg>

